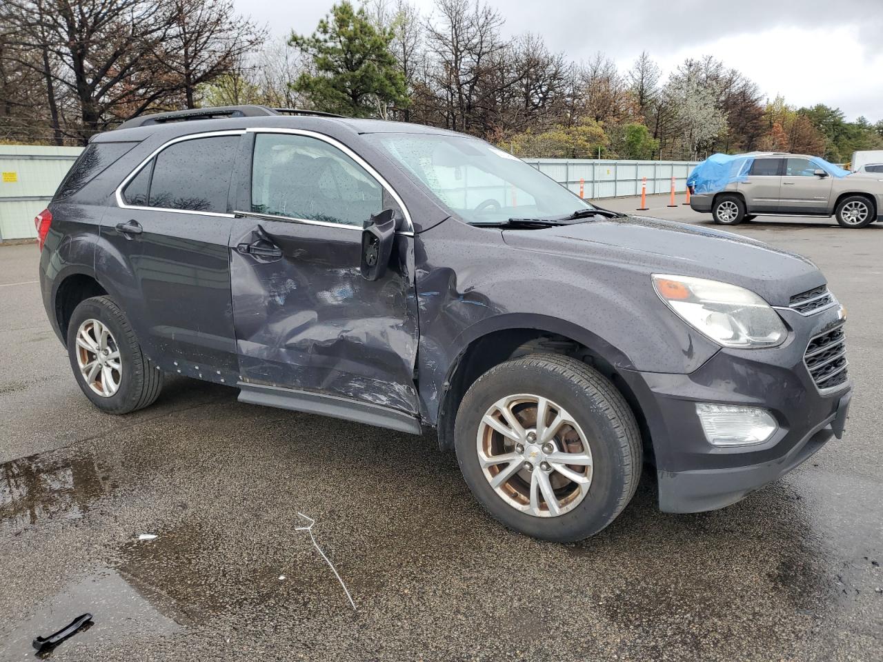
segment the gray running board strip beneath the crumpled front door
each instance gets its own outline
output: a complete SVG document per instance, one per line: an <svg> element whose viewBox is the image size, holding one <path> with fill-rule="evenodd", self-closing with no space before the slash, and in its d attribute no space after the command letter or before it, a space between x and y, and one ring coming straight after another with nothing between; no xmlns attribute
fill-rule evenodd
<svg viewBox="0 0 883 662"><path fill-rule="evenodd" d="M237 386L240 388L239 402L343 418L345 421L387 427L400 433L423 433L423 428L417 417L406 414L404 411L381 407L379 404L358 402L312 391L296 391L291 388L248 384L244 381L238 382Z"/></svg>

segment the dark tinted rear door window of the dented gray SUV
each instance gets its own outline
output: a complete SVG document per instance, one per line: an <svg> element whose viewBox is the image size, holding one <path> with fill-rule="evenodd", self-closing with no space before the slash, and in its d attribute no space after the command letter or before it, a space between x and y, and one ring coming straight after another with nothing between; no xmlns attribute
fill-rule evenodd
<svg viewBox="0 0 883 662"><path fill-rule="evenodd" d="M226 212L238 136L177 142L156 154L123 192L126 204Z"/></svg>

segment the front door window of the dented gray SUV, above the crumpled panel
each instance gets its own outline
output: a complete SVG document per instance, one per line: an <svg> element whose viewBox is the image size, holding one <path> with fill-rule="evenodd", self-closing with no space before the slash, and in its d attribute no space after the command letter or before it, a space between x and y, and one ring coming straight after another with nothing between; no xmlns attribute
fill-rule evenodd
<svg viewBox="0 0 883 662"><path fill-rule="evenodd" d="M253 212L360 228L384 207L381 184L336 147L309 136L255 136Z"/></svg>

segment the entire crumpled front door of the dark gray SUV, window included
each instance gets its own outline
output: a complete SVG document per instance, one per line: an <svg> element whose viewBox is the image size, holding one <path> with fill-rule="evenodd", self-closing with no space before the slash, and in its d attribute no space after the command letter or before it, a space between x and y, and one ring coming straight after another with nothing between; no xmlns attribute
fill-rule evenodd
<svg viewBox="0 0 883 662"><path fill-rule="evenodd" d="M396 237L381 280L359 272L362 226L395 206L389 191L325 139L249 138L251 181L230 236L242 380L416 413L412 237Z"/></svg>

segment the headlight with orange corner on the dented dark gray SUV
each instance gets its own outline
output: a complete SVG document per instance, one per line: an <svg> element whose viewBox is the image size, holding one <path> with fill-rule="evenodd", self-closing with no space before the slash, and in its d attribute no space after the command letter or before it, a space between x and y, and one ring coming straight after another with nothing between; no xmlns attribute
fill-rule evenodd
<svg viewBox="0 0 883 662"><path fill-rule="evenodd" d="M725 347L773 347L787 334L779 315L751 290L662 274L653 274L653 287L678 317Z"/></svg>

